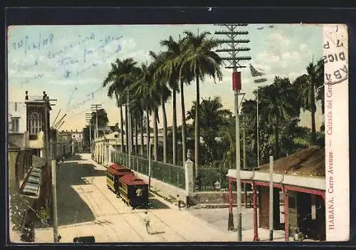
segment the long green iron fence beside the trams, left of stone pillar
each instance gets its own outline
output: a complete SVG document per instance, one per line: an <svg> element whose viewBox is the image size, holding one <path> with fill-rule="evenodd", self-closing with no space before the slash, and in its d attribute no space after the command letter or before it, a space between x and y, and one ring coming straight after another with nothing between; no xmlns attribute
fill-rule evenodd
<svg viewBox="0 0 356 250"><path fill-rule="evenodd" d="M130 160L130 162L129 162ZM131 170L142 175L149 175L149 160L138 155L127 155L118 153L114 162L131 167ZM185 189L185 169L183 166L151 160L151 177L174 187Z"/></svg>

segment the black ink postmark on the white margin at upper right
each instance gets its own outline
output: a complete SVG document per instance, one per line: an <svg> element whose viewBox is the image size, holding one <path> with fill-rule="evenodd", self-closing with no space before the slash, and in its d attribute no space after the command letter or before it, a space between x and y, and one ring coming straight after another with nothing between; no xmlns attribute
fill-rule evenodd
<svg viewBox="0 0 356 250"><path fill-rule="evenodd" d="M338 26L324 32L323 63L325 85L342 83L348 79L347 36Z"/></svg>

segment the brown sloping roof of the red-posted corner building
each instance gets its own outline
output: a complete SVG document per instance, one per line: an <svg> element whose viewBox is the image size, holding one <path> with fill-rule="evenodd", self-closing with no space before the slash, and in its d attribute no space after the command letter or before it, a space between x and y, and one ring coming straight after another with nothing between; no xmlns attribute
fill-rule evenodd
<svg viewBox="0 0 356 250"><path fill-rule="evenodd" d="M269 164L259 171L269 172ZM273 172L281 175L325 177L325 148L312 146L273 162Z"/></svg>

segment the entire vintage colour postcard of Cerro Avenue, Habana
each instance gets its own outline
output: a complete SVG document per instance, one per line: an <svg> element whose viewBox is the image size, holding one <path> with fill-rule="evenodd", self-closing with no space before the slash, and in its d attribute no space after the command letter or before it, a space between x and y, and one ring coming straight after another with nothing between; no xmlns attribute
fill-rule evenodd
<svg viewBox="0 0 356 250"><path fill-rule="evenodd" d="M347 34L8 26L9 241L347 241Z"/></svg>

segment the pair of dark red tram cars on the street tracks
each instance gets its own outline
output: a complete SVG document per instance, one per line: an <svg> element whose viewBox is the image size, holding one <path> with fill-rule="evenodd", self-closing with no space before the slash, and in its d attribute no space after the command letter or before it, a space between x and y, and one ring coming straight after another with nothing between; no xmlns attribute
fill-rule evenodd
<svg viewBox="0 0 356 250"><path fill-rule="evenodd" d="M112 164L106 172L108 189L120 197L127 206L147 207L148 183L143 181L123 165Z"/></svg>

